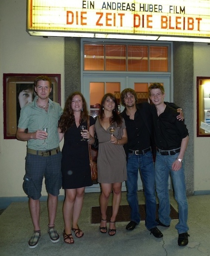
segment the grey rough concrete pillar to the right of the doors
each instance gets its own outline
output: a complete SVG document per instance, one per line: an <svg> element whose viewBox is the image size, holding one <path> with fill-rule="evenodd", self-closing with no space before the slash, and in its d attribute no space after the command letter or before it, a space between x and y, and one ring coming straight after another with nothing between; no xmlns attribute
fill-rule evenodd
<svg viewBox="0 0 210 256"><path fill-rule="evenodd" d="M174 102L181 106L189 131L189 144L185 152L185 180L188 195L194 192L194 116L193 116L193 43L174 42ZM186 100L187 99L187 100Z"/></svg>

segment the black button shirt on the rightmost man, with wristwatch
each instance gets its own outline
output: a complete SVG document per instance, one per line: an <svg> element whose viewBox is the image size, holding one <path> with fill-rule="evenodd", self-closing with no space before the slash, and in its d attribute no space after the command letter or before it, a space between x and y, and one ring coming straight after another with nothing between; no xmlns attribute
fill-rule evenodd
<svg viewBox="0 0 210 256"><path fill-rule="evenodd" d="M176 119L177 111L166 105L165 111L158 117L153 105L152 113L156 146L162 150L179 148L182 139L189 134L184 121Z"/></svg>

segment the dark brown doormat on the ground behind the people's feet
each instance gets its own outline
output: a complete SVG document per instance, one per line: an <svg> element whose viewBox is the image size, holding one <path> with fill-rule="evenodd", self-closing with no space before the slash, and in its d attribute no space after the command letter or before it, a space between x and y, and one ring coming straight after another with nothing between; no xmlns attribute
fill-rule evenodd
<svg viewBox="0 0 210 256"><path fill-rule="evenodd" d="M158 207L159 204L157 204L156 208L156 218L158 218ZM139 205L139 211L141 215L141 220L145 220L145 205ZM107 207L107 220L111 218L112 215L112 206ZM178 212L174 209L174 207L171 205L171 213L170 213L171 219L178 219ZM101 221L101 212L100 207L92 207L92 216L91 216L91 223L100 223ZM129 222L130 221L130 206L129 205L120 205L118 215L116 217L116 222Z"/></svg>

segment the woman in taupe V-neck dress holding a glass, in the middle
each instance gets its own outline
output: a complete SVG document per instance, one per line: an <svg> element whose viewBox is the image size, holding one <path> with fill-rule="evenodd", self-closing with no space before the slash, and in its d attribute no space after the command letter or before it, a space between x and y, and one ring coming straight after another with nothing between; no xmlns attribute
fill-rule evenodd
<svg viewBox="0 0 210 256"><path fill-rule="evenodd" d="M98 182L101 185L99 230L102 233L107 232L106 210L109 196L113 192L112 216L108 230L109 235L113 236L116 234L115 220L121 201L122 182L127 179L126 154L123 148L123 145L127 143L127 132L125 120L118 114L118 104L113 94L104 95L99 113L95 122L99 142Z"/></svg>

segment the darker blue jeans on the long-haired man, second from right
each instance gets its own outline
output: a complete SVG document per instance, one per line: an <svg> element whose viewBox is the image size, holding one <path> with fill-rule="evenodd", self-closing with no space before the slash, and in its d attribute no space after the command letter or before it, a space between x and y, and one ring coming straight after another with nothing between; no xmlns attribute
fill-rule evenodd
<svg viewBox="0 0 210 256"><path fill-rule="evenodd" d="M127 160L127 201L131 208L130 219L136 223L140 222L139 202L137 196L138 172L141 179L146 198L146 219L147 229L155 228L156 197L155 197L155 175L154 163L151 151L146 154L135 155L129 153Z"/></svg>

